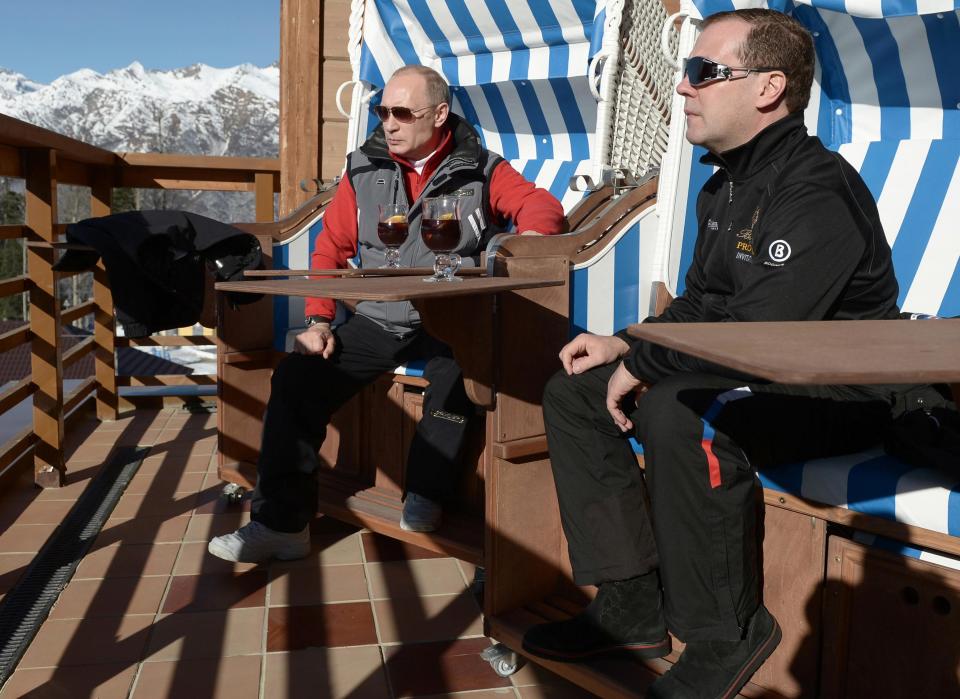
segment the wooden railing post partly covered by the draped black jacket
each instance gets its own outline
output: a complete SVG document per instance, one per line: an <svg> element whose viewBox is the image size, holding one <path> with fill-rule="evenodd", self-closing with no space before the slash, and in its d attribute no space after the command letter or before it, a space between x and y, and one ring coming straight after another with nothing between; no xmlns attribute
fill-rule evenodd
<svg viewBox="0 0 960 699"><path fill-rule="evenodd" d="M106 169L97 170L90 185L90 216L109 216L113 199L113 177ZM97 417L101 420L116 420L120 410L120 395L117 393L116 331L113 315L113 295L103 258L93 271L93 355L94 376L97 380Z"/></svg>

